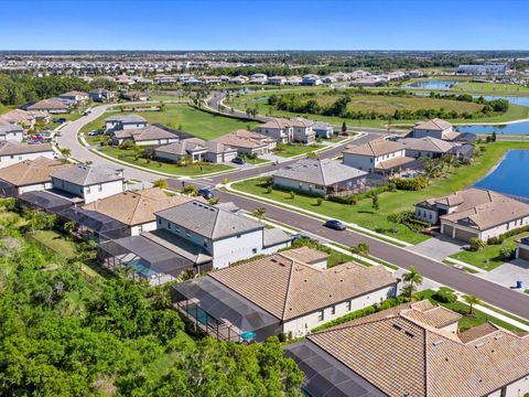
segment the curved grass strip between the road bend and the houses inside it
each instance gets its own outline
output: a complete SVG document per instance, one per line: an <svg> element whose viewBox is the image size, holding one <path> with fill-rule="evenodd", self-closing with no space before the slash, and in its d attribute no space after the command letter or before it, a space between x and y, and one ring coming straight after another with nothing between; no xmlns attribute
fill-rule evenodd
<svg viewBox="0 0 529 397"><path fill-rule="evenodd" d="M228 171L231 170L233 167L224 165L224 164L193 164L190 167L179 167L176 164L166 163L166 162L159 162L155 160L151 160L150 162L147 159L139 158L136 160L136 153L133 150L121 150L118 148L102 148L99 149L101 153L111 155L118 160L126 161L132 165L143 167L149 170L170 173L174 175L188 175L188 176L196 176L208 174L212 172L220 172L220 171Z"/></svg>

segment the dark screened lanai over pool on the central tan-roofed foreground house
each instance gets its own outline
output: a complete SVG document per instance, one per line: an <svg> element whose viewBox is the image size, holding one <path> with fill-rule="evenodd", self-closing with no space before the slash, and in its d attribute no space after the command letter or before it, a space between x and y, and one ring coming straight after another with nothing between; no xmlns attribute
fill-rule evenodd
<svg viewBox="0 0 529 397"><path fill-rule="evenodd" d="M208 334L242 342L245 334L264 341L281 333L281 321L212 277L173 287L175 307ZM242 335L242 337L241 337Z"/></svg>

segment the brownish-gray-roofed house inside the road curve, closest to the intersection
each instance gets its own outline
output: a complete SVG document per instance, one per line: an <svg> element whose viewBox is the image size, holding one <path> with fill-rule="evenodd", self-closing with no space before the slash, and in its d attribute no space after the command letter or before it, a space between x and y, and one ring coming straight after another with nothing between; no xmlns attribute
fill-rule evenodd
<svg viewBox="0 0 529 397"><path fill-rule="evenodd" d="M179 162L183 158L188 158L193 162L208 161L217 164L234 160L237 157L237 149L220 142L187 138L154 149L154 157L172 162Z"/></svg>

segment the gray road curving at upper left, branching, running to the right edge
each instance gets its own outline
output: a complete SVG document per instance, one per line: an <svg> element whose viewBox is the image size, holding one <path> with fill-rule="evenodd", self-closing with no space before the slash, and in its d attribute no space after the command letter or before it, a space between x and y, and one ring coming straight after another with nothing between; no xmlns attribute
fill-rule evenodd
<svg viewBox="0 0 529 397"><path fill-rule="evenodd" d="M116 163L104 159L80 144L77 141L78 130L87 122L93 121L99 117L105 109L115 105L102 105L93 109L91 114L84 116L80 119L68 124L62 129L62 137L57 138L58 144L63 148L68 148L72 151L72 157L82 161L91 161L94 164L116 167ZM381 131L380 131L381 132ZM380 136L380 132L370 132L359 138L358 141L365 142L373 140ZM322 152L321 157L334 157L342 151L343 147L338 146L328 151ZM295 160L292 160L295 161ZM241 178L250 178L263 172L270 172L274 169L284 165L288 162L283 162L281 165L264 165L253 169L241 170L227 174L233 181ZM125 174L129 179L137 179L140 181L154 181L160 179L159 175L150 172L141 171L132 167L119 164L125 170ZM202 180L192 181L191 183L198 186L215 184L223 181L225 175L217 175L213 178L204 178ZM177 179L169 179L170 185L175 189L182 187L182 181ZM242 210L252 211L256 207L266 207L267 217L272 221L278 221L283 224L292 225L295 228L310 232L314 235L326 238L327 240L335 242L345 246L356 245L365 242L370 246L371 254L375 257L392 262L401 268L409 268L411 265L417 267L424 277L440 282L442 285L452 287L464 293L474 294L483 301L494 304L498 308L507 310L519 316L529 319L529 294L512 291L508 288L499 286L497 283L487 281L485 279L475 277L471 273L462 272L450 266L446 266L434 259L430 259L418 255L415 253L396 247L385 242L355 233L353 230L336 232L322 226L322 222L314 219L310 216L302 215L292 211L279 208L277 206L267 204L264 202L241 197L233 193L217 191L216 196L222 201L231 201Z"/></svg>

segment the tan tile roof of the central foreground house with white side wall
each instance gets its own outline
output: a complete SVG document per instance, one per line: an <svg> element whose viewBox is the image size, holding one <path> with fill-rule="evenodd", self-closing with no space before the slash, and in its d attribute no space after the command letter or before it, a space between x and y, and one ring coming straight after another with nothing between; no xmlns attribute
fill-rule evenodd
<svg viewBox="0 0 529 397"><path fill-rule="evenodd" d="M314 312L397 282L382 266L317 269L274 254L214 271L217 281L281 320Z"/></svg>

